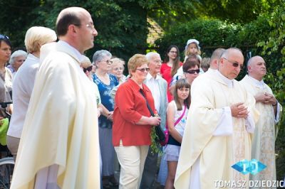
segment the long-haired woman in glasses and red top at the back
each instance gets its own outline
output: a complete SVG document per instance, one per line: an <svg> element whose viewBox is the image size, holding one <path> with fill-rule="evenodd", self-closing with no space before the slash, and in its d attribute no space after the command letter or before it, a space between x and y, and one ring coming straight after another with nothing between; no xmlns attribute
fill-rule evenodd
<svg viewBox="0 0 285 189"><path fill-rule="evenodd" d="M180 66L182 66L182 63L180 62L179 49L176 45L170 45L170 47L167 48L165 61L164 63L162 63L162 66L160 68L160 73L163 79L167 81L168 85L167 89L168 102L170 102L173 99L173 96L171 95L169 90L170 82L172 80L173 75L175 75Z"/></svg>

